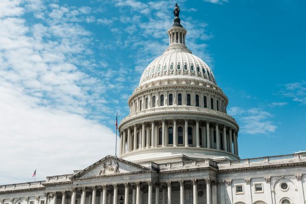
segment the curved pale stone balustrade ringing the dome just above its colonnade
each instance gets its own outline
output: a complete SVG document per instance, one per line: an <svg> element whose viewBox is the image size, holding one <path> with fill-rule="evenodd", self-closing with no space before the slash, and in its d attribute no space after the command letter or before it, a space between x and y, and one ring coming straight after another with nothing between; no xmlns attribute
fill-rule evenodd
<svg viewBox="0 0 306 204"><path fill-rule="evenodd" d="M127 119L131 119L135 116L146 115L149 113L167 112L167 111L186 111L186 112L197 111L197 112L202 112L202 113L215 114L218 116L222 116L226 119L232 120L236 123L236 120L232 116L227 115L226 113L223 113L217 110L213 110L213 109L209 109L209 108L201 108L201 107L194 107L194 106L162 106L162 107L156 107L156 108L149 108L149 109L145 109L142 111L138 111L136 113L130 113L128 116L122 119L122 122Z"/></svg>

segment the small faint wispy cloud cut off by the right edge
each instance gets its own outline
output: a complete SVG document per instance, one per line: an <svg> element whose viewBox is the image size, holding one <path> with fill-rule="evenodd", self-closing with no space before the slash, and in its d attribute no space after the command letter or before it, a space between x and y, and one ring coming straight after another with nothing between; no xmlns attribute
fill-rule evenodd
<svg viewBox="0 0 306 204"><path fill-rule="evenodd" d="M306 82L295 82L284 85L281 95L291 98L293 101L306 105Z"/></svg>

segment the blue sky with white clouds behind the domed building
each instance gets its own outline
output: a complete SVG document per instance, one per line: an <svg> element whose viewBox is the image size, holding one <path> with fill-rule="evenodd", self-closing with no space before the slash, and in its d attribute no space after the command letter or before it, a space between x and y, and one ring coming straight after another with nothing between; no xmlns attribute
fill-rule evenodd
<svg viewBox="0 0 306 204"><path fill-rule="evenodd" d="M306 150L306 2L178 1L240 124L241 158ZM167 47L174 1L0 1L0 185L114 155L116 112Z"/></svg>

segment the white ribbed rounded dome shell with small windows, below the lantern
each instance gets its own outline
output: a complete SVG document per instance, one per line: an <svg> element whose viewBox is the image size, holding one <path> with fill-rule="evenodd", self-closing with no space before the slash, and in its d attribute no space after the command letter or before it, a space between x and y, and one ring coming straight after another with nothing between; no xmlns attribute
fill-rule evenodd
<svg viewBox="0 0 306 204"><path fill-rule="evenodd" d="M144 70L139 85L169 79L202 80L216 84L209 66L200 58L184 52L172 50L153 60Z"/></svg>

